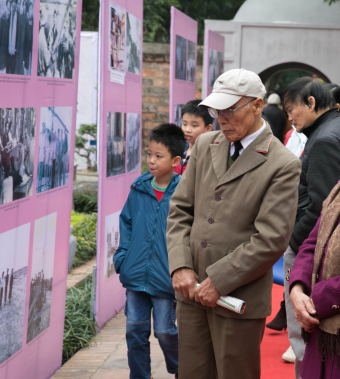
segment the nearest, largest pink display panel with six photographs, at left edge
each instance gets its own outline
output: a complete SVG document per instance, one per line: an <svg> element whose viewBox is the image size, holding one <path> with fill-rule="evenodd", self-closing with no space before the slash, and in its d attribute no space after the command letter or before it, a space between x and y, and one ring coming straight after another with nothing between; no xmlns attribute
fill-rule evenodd
<svg viewBox="0 0 340 379"><path fill-rule="evenodd" d="M0 378L47 379L62 356L81 0L17 4L0 0Z"/></svg>

